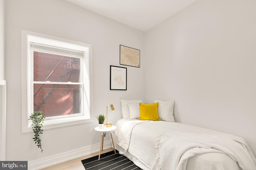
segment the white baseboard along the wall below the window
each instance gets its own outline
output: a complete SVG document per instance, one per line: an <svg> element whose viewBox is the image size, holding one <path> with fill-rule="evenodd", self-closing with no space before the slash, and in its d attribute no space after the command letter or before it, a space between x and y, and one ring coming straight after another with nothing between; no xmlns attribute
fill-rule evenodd
<svg viewBox="0 0 256 170"><path fill-rule="evenodd" d="M112 147L112 140L104 141L103 149L108 149L111 147ZM68 152L63 152L61 154L48 156L46 158L41 158L38 160L28 161L28 169L39 170L42 168L46 168L48 166L52 166L52 165L66 162L68 160L79 158L88 154L99 152L99 148L100 148L100 143L86 146L83 148L78 148L75 150L70 150Z"/></svg>

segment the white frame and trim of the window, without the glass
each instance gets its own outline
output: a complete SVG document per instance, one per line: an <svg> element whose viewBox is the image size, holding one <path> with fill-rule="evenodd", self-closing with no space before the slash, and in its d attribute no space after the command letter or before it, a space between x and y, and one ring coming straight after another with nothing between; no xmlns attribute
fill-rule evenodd
<svg viewBox="0 0 256 170"><path fill-rule="evenodd" d="M43 129L63 127L68 125L75 125L80 123L92 122L93 121L93 112L92 112L92 45L75 42L71 40L66 40L62 38L57 38L53 36L48 36L44 34L39 34L35 32L30 32L22 30L22 132L31 131L31 122L28 120L29 116L33 112L33 103L34 103L34 94L33 94L33 61L30 45L38 44L46 47L53 47L53 49L67 49L68 51L74 51L74 53L83 53L82 56L84 62L81 63L84 67L81 67L81 72L84 79L82 83L82 95L83 99L86 99L81 102L83 105L82 113L83 114L74 114L67 116L56 116L46 118L44 121ZM37 50L36 50L37 51ZM65 50L64 50L65 51ZM44 51L41 51L44 52ZM52 54L59 54L58 52L52 52ZM65 56L69 56L68 54ZM74 57L73 55L70 55ZM82 69L85 68L85 69ZM40 83L40 82L38 82ZM54 82L41 82L41 83L54 83ZM55 82L57 83L57 82ZM58 82L58 84L61 84ZM64 83L64 84L74 84L74 83ZM79 83L76 83L79 84Z"/></svg>

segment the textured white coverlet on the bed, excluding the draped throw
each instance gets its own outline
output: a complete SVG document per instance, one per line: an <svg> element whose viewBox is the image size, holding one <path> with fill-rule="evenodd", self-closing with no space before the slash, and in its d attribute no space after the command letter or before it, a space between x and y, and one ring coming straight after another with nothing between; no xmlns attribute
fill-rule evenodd
<svg viewBox="0 0 256 170"><path fill-rule="evenodd" d="M135 123L137 121L137 123ZM131 123L132 122L132 123ZM181 123L165 122L165 121L147 121L138 123L138 120L120 119L117 122L116 148L121 154L131 159L135 164L144 170L149 170L159 166L157 162L158 149L156 148L157 136L162 133L178 132L197 132L206 134L222 134L226 136L234 136L214 130L209 130ZM127 128L129 124L134 126ZM130 129L130 132L127 132ZM132 133L131 133L132 132ZM126 136L125 139L119 136ZM128 138L127 138L128 137ZM130 140L129 140L130 138ZM216 156L218 154L218 156ZM156 161L156 163L155 163ZM155 163L155 164L154 164ZM186 170L240 170L238 163L230 156L223 153L207 153L197 154L186 160Z"/></svg>

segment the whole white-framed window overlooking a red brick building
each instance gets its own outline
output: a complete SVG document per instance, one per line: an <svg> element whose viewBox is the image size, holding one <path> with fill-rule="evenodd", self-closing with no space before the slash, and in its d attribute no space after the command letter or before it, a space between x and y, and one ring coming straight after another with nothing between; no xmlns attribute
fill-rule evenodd
<svg viewBox="0 0 256 170"><path fill-rule="evenodd" d="M22 109L22 132L30 128L28 117L36 111L44 113L46 128L92 121L91 45L49 37L22 31L27 54L27 81L22 83L22 93L27 87L27 109ZM22 51L24 57L23 47Z"/></svg>

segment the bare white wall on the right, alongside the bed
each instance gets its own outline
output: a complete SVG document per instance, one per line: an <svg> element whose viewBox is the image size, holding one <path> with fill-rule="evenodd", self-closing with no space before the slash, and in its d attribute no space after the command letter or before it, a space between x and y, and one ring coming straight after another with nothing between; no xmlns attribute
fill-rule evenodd
<svg viewBox="0 0 256 170"><path fill-rule="evenodd" d="M145 35L146 99L177 122L244 137L256 154L256 1L197 0Z"/></svg>

